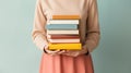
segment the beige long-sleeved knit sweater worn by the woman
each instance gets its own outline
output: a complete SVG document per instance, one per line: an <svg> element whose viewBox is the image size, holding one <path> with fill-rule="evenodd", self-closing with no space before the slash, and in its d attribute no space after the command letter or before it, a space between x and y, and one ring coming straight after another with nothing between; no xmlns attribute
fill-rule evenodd
<svg viewBox="0 0 131 73"><path fill-rule="evenodd" d="M55 14L80 15L80 36L83 47L90 52L97 47L99 24L96 0L37 0L32 39L40 50L48 42L45 25Z"/></svg>

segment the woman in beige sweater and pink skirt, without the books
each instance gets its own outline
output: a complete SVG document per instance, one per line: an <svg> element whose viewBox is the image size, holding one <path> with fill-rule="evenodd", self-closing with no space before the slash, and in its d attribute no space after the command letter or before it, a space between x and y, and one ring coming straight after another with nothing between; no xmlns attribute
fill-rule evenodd
<svg viewBox="0 0 131 73"><path fill-rule="evenodd" d="M55 14L80 15L82 50L48 50L45 26ZM94 73L91 52L99 41L96 0L37 0L32 37L44 51L39 73Z"/></svg>

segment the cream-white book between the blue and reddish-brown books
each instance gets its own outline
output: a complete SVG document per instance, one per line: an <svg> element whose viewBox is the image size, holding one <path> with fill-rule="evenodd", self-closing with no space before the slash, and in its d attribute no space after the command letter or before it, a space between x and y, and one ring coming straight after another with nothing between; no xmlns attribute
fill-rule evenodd
<svg viewBox="0 0 131 73"><path fill-rule="evenodd" d="M79 34L79 29L76 31L48 31L47 29L47 34L61 34L61 35L78 35Z"/></svg>

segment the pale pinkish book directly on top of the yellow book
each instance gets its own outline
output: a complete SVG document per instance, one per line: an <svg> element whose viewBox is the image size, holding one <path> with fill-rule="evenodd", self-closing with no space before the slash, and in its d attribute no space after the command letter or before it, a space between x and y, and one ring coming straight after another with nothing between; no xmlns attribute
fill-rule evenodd
<svg viewBox="0 0 131 73"><path fill-rule="evenodd" d="M80 39L48 39L50 42L80 42Z"/></svg>

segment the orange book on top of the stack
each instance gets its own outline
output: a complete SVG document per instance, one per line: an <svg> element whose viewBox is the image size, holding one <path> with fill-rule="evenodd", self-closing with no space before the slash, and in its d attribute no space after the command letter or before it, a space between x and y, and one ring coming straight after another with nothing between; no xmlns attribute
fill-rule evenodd
<svg viewBox="0 0 131 73"><path fill-rule="evenodd" d="M52 20L79 20L80 15L52 15Z"/></svg>

